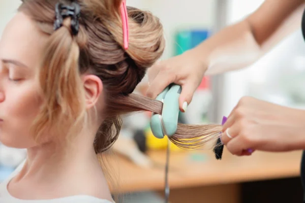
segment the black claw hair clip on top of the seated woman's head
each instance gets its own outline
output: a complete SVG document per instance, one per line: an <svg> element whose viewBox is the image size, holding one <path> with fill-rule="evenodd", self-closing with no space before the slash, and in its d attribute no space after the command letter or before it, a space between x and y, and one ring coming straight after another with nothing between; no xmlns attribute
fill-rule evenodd
<svg viewBox="0 0 305 203"><path fill-rule="evenodd" d="M72 2L70 5L65 5L63 3L57 3L55 6L55 21L54 21L54 30L63 26L63 21L67 17L71 17L71 29L74 36L77 35L79 30L79 21L80 17L80 6Z"/></svg>

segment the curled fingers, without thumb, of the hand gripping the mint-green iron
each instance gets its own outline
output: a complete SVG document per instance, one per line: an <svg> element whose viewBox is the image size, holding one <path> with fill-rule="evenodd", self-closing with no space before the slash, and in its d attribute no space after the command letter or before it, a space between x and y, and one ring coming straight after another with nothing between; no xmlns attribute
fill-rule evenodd
<svg viewBox="0 0 305 203"><path fill-rule="evenodd" d="M149 81L149 87L146 95L152 99L155 99L168 85L175 81L175 75L167 73L166 71L160 71L157 76Z"/></svg>

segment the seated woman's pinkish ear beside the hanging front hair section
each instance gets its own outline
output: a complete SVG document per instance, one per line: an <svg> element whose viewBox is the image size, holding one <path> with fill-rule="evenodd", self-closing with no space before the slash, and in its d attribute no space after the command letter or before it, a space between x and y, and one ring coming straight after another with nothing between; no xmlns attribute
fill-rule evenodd
<svg viewBox="0 0 305 203"><path fill-rule="evenodd" d="M90 109L97 104L103 91L103 83L95 75L84 75L82 81L85 90L86 109Z"/></svg>

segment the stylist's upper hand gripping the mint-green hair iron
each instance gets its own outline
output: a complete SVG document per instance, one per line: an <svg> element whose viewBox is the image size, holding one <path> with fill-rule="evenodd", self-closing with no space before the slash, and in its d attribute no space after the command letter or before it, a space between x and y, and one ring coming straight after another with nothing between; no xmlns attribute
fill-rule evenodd
<svg viewBox="0 0 305 203"><path fill-rule="evenodd" d="M203 53L192 49L150 67L147 96L155 99L169 84L180 85L179 109L185 112L207 69L203 56Z"/></svg>

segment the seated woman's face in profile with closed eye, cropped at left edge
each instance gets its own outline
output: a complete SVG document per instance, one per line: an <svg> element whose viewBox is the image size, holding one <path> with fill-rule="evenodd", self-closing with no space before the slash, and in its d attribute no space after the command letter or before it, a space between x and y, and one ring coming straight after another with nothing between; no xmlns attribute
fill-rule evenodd
<svg viewBox="0 0 305 203"><path fill-rule="evenodd" d="M18 13L0 40L0 142L9 147L36 145L29 129L41 104L36 77L46 39L34 21Z"/></svg>

